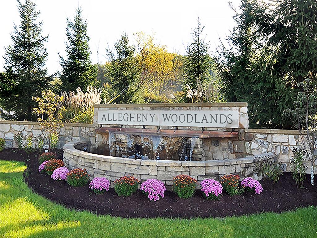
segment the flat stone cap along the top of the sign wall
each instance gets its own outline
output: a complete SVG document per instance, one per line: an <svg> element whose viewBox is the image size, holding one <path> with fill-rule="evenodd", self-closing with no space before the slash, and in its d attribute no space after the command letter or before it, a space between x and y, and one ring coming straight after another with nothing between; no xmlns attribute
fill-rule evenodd
<svg viewBox="0 0 317 238"><path fill-rule="evenodd" d="M219 102L219 103L140 103L140 104L94 104L95 108L118 107L244 107L247 102Z"/></svg>

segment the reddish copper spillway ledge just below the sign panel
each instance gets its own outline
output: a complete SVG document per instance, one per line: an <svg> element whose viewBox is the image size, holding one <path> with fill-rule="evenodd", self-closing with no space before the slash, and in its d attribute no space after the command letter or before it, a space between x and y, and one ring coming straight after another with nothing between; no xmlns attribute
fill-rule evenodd
<svg viewBox="0 0 317 238"><path fill-rule="evenodd" d="M238 132L229 131L198 131L198 130L172 130L172 129L141 129L101 127L96 129L99 134L115 132L117 134L149 135L149 136L184 136L198 138L237 138Z"/></svg>

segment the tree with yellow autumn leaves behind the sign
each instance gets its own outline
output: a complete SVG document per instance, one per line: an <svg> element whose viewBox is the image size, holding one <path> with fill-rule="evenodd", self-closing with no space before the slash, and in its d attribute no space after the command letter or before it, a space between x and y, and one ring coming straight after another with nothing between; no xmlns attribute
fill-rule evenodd
<svg viewBox="0 0 317 238"><path fill-rule="evenodd" d="M183 57L167 51L166 45L154 42L154 37L143 32L135 33L140 83L146 102L165 101L175 91L183 75Z"/></svg>

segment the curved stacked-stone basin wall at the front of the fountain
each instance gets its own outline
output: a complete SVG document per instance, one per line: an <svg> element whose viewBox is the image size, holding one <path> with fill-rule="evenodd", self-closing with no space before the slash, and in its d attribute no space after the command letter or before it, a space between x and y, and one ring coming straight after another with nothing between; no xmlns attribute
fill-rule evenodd
<svg viewBox="0 0 317 238"><path fill-rule="evenodd" d="M64 162L69 169L87 169L90 178L107 177L110 182L125 175L134 176L141 181L159 179L171 185L175 176L190 175L202 181L205 178L219 179L225 174L238 174L241 178L253 176L254 157L231 160L211 161L173 161L173 160L135 160L106 155L91 154L81 151L89 146L88 141L70 142L64 146ZM272 153L264 153L268 159L275 158Z"/></svg>

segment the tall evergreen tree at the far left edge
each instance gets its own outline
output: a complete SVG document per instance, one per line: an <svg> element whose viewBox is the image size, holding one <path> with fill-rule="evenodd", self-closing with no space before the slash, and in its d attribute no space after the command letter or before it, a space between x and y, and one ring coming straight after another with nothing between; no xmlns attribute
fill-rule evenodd
<svg viewBox="0 0 317 238"><path fill-rule="evenodd" d="M35 119L32 109L36 102L33 96L40 96L49 87L47 69L44 68L47 52L44 43L48 36L42 36L40 12L31 0L18 1L21 17L20 26L14 25L11 34L12 45L5 49L4 70L1 75L2 117L13 120ZM14 114L10 115L10 111Z"/></svg>

